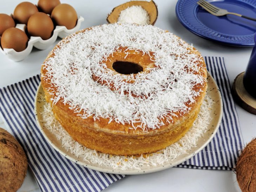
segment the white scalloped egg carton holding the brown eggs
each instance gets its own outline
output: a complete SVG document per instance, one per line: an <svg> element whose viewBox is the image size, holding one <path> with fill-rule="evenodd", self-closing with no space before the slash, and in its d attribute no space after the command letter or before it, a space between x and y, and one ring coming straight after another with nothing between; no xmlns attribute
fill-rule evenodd
<svg viewBox="0 0 256 192"><path fill-rule="evenodd" d="M64 38L69 34L78 31L80 29L81 22L83 20L84 20L83 17L79 16L76 26L73 29L67 29L65 26L56 26L55 29L53 30L53 35L47 40L42 40L41 37L31 36L30 39L28 40L27 48L21 52L16 52L14 49L6 49L6 48L4 48L3 50L1 47L0 47L0 52L2 52L4 55L6 55L9 59L13 61L21 61L25 59L29 55L29 53L31 53L33 46L40 50L45 50L56 41L58 36L60 38ZM16 28L19 28L25 32L27 26L25 24L17 24ZM0 37L0 40L1 40L1 37Z"/></svg>

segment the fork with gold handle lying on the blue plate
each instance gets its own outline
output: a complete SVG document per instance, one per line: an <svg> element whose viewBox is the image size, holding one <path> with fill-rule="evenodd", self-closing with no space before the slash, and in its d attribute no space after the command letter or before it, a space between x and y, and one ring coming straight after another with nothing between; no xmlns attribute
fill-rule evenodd
<svg viewBox="0 0 256 192"><path fill-rule="evenodd" d="M240 16L242 18L250 19L252 21L256 21L256 19L254 19L254 18L244 16L244 15L241 15L241 14L238 14L238 13L228 12L226 9L218 8L218 7L210 4L206 0L199 0L199 1L197 1L197 4L200 5L201 7L203 7L209 13L211 13L213 15L216 15L216 16L223 16L223 15L227 15L227 14L232 14L232 15Z"/></svg>

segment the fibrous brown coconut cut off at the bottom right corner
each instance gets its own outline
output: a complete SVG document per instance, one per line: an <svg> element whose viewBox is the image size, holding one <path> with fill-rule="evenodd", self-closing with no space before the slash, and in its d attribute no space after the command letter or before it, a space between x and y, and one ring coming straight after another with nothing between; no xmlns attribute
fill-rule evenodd
<svg viewBox="0 0 256 192"><path fill-rule="evenodd" d="M256 191L256 138L247 144L237 160L236 179L243 192Z"/></svg>

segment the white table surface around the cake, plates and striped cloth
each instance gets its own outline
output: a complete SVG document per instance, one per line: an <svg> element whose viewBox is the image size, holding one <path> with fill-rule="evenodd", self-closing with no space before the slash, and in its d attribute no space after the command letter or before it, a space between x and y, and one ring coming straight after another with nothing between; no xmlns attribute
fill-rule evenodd
<svg viewBox="0 0 256 192"><path fill-rule="evenodd" d="M34 4L37 0L28 0ZM82 28L107 23L106 16L114 7L127 0L61 0L72 5L78 15L85 18ZM0 13L10 14L21 0L1 0ZM236 75L245 70L252 48L230 47L202 39L185 29L176 19L175 5L177 0L156 0L158 19L156 27L167 29L193 45L203 56L223 56L227 67L230 83L233 84ZM58 39L55 44L59 41ZM40 67L47 54L55 46L46 50L33 49L32 53L21 62L14 62L0 55L0 88L40 73ZM236 105L244 142L248 143L256 136L256 116ZM8 130L3 119L0 127ZM164 171L126 176L113 183L107 191L239 191L233 171L197 170L170 168ZM19 191L40 191L33 173L28 170L27 176Z"/></svg>

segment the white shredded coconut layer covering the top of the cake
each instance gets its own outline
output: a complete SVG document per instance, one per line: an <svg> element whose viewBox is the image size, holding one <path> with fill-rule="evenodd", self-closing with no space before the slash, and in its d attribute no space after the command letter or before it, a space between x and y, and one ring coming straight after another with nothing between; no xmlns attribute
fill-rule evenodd
<svg viewBox="0 0 256 192"><path fill-rule="evenodd" d="M48 92L54 95L53 104L69 104L81 118L108 118L109 123L128 123L130 129L157 129L164 124L161 119L173 122L177 113L187 113L189 104L201 92L193 88L206 81L201 73L203 58L191 52L193 47L151 25L96 26L66 37L58 47L44 63L47 73L43 78L50 82ZM153 52L150 56L157 67L149 73L114 73L104 62L119 47L145 54ZM116 89L94 81L92 75L112 82ZM134 97L131 93L147 97Z"/></svg>

